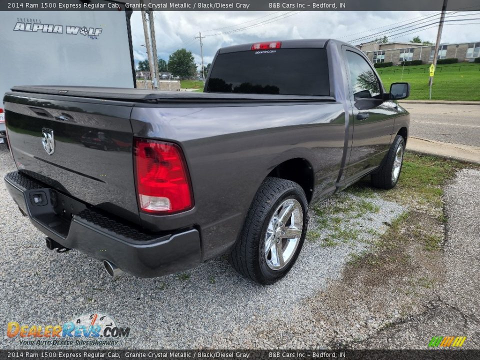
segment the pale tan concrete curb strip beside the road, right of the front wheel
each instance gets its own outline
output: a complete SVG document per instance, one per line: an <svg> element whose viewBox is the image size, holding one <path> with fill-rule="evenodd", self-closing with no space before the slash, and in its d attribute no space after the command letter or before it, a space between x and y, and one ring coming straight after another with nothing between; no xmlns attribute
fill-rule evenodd
<svg viewBox="0 0 480 360"><path fill-rule="evenodd" d="M480 164L480 147L408 137L408 151Z"/></svg>

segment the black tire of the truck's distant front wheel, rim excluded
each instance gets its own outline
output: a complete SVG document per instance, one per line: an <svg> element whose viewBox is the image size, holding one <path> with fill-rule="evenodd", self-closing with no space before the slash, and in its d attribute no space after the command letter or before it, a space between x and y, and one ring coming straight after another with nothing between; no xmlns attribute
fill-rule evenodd
<svg viewBox="0 0 480 360"><path fill-rule="evenodd" d="M396 165L395 157L397 156L397 151L401 146L401 161L400 167L398 169L398 174L393 176L393 168ZM375 187L382 189L391 189L395 187L400 177L401 167L403 165L403 154L405 153L405 141L401 135L396 135L388 153L382 161L382 164L374 173L371 174L371 184Z"/></svg>

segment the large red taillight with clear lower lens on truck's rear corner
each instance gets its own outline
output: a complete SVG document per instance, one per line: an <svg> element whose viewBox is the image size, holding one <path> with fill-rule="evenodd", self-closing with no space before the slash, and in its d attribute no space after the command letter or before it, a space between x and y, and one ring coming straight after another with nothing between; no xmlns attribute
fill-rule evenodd
<svg viewBox="0 0 480 360"><path fill-rule="evenodd" d="M193 207L188 171L179 146L135 138L136 191L140 209L170 214Z"/></svg>

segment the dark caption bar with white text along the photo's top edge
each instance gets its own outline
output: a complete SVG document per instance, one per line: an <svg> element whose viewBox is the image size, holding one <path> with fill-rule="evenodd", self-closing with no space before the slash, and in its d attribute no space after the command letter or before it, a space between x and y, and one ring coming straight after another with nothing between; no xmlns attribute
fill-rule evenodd
<svg viewBox="0 0 480 360"><path fill-rule="evenodd" d="M0 1L1 11L439 11L443 0L18 0ZM449 1L447 10L475 11L478 0Z"/></svg>

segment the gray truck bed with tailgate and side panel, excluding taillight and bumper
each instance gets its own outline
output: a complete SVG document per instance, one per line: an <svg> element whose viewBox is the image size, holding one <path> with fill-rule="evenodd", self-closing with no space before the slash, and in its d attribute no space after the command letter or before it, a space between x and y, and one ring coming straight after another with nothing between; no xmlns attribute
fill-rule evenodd
<svg viewBox="0 0 480 360"><path fill-rule="evenodd" d="M317 180L332 187L344 148L344 106L329 96L16 86L3 100L22 176L132 228L163 234L197 226L204 259L231 245L258 184L275 164L291 156L317 162ZM51 153L42 143L49 133ZM182 149L191 210L162 216L139 211L135 139ZM75 208L65 210L77 215Z"/></svg>

